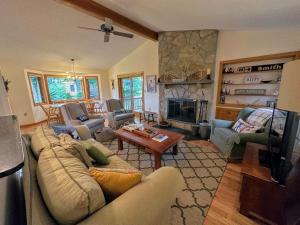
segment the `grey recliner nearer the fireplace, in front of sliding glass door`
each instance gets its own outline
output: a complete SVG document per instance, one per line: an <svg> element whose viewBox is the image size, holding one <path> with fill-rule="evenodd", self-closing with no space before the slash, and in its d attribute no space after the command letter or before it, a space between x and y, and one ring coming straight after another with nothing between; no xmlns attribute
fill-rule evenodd
<svg viewBox="0 0 300 225"><path fill-rule="evenodd" d="M124 110L123 103L119 99L106 100L109 126L118 129L124 123L134 122L134 113L131 110Z"/></svg>

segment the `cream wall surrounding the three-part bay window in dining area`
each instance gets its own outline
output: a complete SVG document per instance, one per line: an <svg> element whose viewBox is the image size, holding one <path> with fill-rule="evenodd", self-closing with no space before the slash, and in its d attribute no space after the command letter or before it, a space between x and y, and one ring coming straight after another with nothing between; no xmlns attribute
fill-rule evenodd
<svg viewBox="0 0 300 225"><path fill-rule="evenodd" d="M8 61L4 59L0 59L0 68L2 75L11 81L8 92L9 100L13 114L18 116L21 125L36 123L45 118L40 107L34 107L33 105L25 70L70 70L70 66L62 67L55 63L53 65L47 63L38 64L38 62ZM100 74L102 97L110 97L108 73L106 71L89 70L80 67L77 69L89 74Z"/></svg>

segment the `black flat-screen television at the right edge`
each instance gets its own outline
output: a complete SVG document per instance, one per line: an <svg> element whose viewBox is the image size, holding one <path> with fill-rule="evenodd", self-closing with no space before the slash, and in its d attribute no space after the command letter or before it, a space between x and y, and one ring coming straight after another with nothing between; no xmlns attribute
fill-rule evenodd
<svg viewBox="0 0 300 225"><path fill-rule="evenodd" d="M279 184L285 184L290 170L300 156L300 147L295 146L298 141L297 135L299 136L298 126L297 113L280 110L274 106L269 130L268 164L272 179Z"/></svg>

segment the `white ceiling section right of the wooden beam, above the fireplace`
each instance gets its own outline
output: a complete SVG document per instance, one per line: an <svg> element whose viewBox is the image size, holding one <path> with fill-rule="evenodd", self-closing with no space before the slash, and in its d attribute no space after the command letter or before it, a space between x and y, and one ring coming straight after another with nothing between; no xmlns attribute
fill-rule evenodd
<svg viewBox="0 0 300 225"><path fill-rule="evenodd" d="M96 0L157 31L300 27L300 0Z"/></svg>

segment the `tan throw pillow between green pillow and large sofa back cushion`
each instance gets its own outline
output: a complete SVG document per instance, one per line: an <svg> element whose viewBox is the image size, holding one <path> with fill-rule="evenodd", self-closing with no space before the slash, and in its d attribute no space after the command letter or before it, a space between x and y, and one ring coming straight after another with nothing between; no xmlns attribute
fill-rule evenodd
<svg viewBox="0 0 300 225"><path fill-rule="evenodd" d="M91 167L91 159L86 152L85 147L78 141L74 140L68 134L59 135L60 146L67 152L71 153L73 156L78 158L87 167Z"/></svg>

